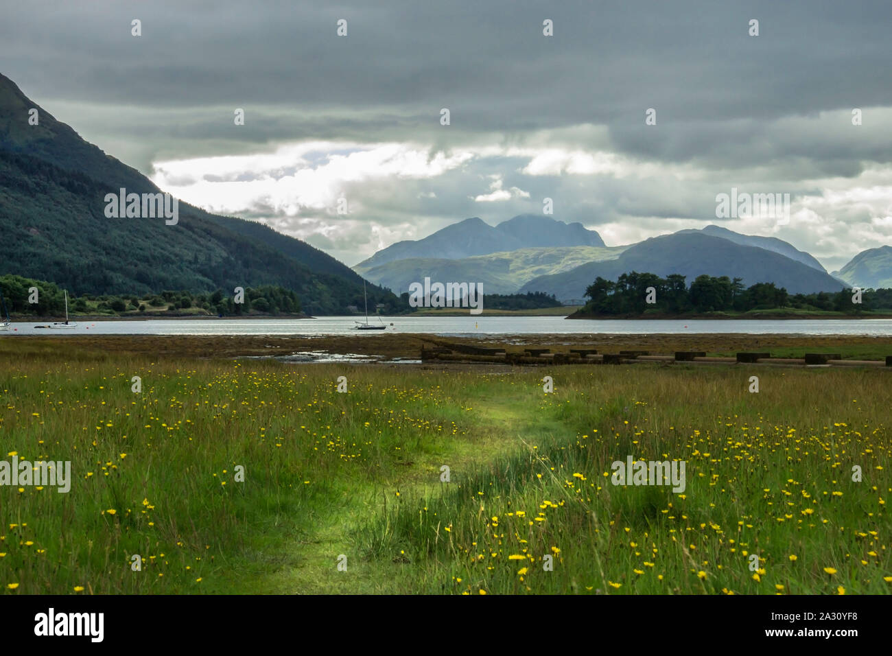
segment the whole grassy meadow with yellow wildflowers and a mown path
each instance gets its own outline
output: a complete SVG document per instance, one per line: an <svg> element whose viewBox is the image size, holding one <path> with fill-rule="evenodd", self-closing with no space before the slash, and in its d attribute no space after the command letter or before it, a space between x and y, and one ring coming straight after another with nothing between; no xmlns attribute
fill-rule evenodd
<svg viewBox="0 0 892 656"><path fill-rule="evenodd" d="M0 486L2 594L892 591L882 368L0 365L0 461L72 478ZM686 489L612 485L628 455Z"/></svg>

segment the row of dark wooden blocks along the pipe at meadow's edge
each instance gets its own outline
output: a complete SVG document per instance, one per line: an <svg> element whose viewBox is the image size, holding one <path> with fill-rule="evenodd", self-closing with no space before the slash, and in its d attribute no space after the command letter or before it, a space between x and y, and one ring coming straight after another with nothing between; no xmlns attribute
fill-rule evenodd
<svg viewBox="0 0 892 656"><path fill-rule="evenodd" d="M551 353L547 348L525 348L524 353L508 353L503 348L453 344L421 349L422 361L497 362L503 364L632 364L634 362L705 362L736 364L830 365L892 367L892 355L881 360L843 360L839 353L805 353L801 358L772 358L771 353L740 352L733 358L707 357L703 351L676 351L673 355L651 355L648 351L598 353L594 348L572 348L567 353Z"/></svg>

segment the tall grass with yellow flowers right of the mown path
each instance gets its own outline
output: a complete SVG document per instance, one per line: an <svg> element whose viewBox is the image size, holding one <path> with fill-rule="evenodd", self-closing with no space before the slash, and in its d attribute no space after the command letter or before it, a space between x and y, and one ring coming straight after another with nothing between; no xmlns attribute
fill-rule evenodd
<svg viewBox="0 0 892 656"><path fill-rule="evenodd" d="M517 453L402 500L359 548L408 554L419 573L407 587L426 592L890 590L887 372L598 368L559 380L544 398L529 380ZM535 414L561 429L524 439ZM687 488L612 485L627 455L686 461Z"/></svg>

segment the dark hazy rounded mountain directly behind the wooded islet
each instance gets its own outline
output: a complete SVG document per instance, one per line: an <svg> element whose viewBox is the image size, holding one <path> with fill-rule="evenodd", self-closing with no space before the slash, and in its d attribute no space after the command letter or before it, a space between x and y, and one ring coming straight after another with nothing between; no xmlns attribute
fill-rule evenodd
<svg viewBox="0 0 892 656"><path fill-rule="evenodd" d="M521 287L524 292L547 292L558 300L582 298L595 278L615 280L629 271L668 276L679 273L690 282L702 274L743 278L746 286L773 282L790 294L838 291L843 287L829 274L780 253L756 246L739 245L698 230L653 237L632 245L615 260L591 262L553 276L535 278Z"/></svg>

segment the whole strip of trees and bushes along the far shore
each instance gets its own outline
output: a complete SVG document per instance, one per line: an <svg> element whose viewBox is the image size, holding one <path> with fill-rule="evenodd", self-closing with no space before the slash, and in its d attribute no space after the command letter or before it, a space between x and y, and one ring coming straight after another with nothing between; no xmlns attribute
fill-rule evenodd
<svg viewBox="0 0 892 656"><path fill-rule="evenodd" d="M301 299L281 286L236 288L194 293L165 290L147 295L70 295L69 315L75 320L150 319L314 319L319 316L361 317L357 305L343 313L310 315ZM52 282L6 275L0 277L6 307L13 320L50 321L63 316L62 289ZM234 290L235 291L235 290ZM588 320L797 320L892 319L892 289L865 289L789 295L773 283L744 288L740 278L698 276L686 286L683 276L660 278L632 271L615 282L597 278L585 291L584 305L561 305L542 292L483 296L483 308L411 307L409 294L399 298L398 311L377 305L378 317L560 317ZM236 298L238 301L236 302ZM855 301L857 299L857 301Z"/></svg>

